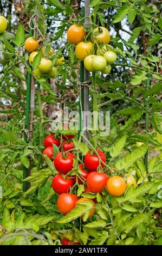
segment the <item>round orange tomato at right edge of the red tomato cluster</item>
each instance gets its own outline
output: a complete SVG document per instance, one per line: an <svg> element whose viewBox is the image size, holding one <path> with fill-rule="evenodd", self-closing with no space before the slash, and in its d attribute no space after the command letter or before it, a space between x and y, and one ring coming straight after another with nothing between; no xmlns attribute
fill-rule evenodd
<svg viewBox="0 0 162 256"><path fill-rule="evenodd" d="M127 185L120 176L112 176L106 183L107 191L114 197L120 197L125 193Z"/></svg>

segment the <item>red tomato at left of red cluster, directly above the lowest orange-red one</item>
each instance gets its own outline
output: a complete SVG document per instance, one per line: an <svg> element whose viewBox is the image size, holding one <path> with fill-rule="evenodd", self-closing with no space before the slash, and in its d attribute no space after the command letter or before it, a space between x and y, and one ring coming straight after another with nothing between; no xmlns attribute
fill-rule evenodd
<svg viewBox="0 0 162 256"><path fill-rule="evenodd" d="M57 194L67 193L73 187L73 179L63 179L61 174L56 174L52 180L53 190Z"/></svg>

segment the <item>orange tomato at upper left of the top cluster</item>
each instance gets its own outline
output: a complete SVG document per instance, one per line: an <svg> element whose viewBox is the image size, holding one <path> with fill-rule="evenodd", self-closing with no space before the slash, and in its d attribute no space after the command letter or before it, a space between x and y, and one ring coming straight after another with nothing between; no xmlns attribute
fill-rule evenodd
<svg viewBox="0 0 162 256"><path fill-rule="evenodd" d="M71 44L78 44L84 39L85 35L84 27L76 24L70 26L67 32L67 38Z"/></svg>

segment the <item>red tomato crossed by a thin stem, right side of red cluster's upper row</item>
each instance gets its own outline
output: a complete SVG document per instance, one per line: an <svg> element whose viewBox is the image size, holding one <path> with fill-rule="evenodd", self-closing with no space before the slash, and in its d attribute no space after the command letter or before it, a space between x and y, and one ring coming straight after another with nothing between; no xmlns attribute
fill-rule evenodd
<svg viewBox="0 0 162 256"><path fill-rule="evenodd" d="M101 160L106 163L106 157L105 157L105 154L97 149L96 150L101 158ZM88 152L86 155L85 155L85 164L86 164L86 167L88 170L90 170L91 172L95 172L97 169L98 169L98 166L99 166L99 157L97 155L91 155L90 152ZM101 167L103 168L104 167L104 164L101 162Z"/></svg>

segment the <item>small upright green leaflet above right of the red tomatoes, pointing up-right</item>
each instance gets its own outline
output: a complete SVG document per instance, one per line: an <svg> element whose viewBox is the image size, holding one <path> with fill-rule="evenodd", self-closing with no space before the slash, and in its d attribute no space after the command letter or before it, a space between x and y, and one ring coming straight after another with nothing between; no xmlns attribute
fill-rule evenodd
<svg viewBox="0 0 162 256"><path fill-rule="evenodd" d="M109 154L112 157L116 157L122 153L122 149L124 148L127 141L127 133L125 133L121 138L116 141L111 148L109 148Z"/></svg>

